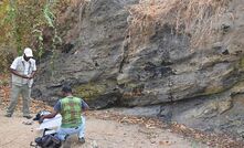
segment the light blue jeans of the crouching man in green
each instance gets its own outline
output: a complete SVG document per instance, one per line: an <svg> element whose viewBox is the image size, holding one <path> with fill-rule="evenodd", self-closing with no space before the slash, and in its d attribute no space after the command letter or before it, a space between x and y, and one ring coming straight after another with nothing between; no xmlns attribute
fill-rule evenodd
<svg viewBox="0 0 244 148"><path fill-rule="evenodd" d="M57 129L57 138L60 140L66 140L67 136L77 134L78 138L83 138L85 136L85 118L82 117L82 124L78 127L74 128L62 128Z"/></svg>

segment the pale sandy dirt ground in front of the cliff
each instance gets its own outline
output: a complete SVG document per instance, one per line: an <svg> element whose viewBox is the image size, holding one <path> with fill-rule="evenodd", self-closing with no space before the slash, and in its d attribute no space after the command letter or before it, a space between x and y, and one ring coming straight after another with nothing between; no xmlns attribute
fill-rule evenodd
<svg viewBox="0 0 244 148"><path fill-rule="evenodd" d="M14 114L12 118L3 117L0 110L0 148L29 148L30 142L41 133L36 131L38 123L22 118ZM120 124L116 120L98 119L94 116L86 117L86 142L79 145L76 137L72 138L72 148L192 148L204 145L165 129L146 128L141 125Z"/></svg>

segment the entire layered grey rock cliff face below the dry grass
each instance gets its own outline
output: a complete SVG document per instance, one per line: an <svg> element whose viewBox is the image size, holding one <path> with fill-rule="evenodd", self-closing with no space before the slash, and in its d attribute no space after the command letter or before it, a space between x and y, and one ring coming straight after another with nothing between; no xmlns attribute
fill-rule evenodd
<svg viewBox="0 0 244 148"><path fill-rule="evenodd" d="M156 115L193 127L216 118L223 128L236 117L243 123L236 94L243 93L244 2L230 2L213 24L218 40L193 50L191 35L170 24L128 35L128 8L137 3L86 0L70 7L61 18L65 44L55 59L39 65L33 96L53 102L68 83L96 108L159 105L150 107Z"/></svg>

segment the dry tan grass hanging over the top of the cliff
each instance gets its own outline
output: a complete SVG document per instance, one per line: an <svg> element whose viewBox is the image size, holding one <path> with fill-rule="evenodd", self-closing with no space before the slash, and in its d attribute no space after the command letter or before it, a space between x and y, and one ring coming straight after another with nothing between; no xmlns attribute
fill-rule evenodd
<svg viewBox="0 0 244 148"><path fill-rule="evenodd" d="M191 35L192 47L208 42L214 34L213 24L226 11L229 0L140 0L129 8L130 36L150 35L156 24L169 24L178 33ZM139 27L139 28L138 28Z"/></svg>

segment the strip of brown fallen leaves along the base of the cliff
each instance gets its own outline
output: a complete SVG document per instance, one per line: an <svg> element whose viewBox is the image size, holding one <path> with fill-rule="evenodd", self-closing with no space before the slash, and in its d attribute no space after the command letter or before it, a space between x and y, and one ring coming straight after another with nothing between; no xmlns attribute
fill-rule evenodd
<svg viewBox="0 0 244 148"><path fill-rule="evenodd" d="M107 110L93 110L87 112L86 116L93 116L104 120L117 120L121 124L137 124L145 126L146 128L165 128L170 133L182 135L184 138L193 138L197 141L206 144L209 147L221 147L221 148L243 148L244 142L236 140L234 137L229 135L209 134L201 130L192 129L185 125L178 123L166 124L158 118L138 117L138 116L126 116L119 115L118 113ZM159 145L169 146L170 140L160 140Z"/></svg>

